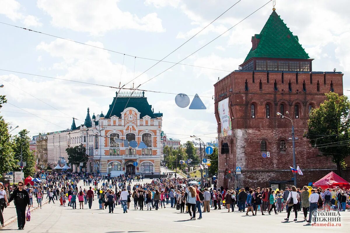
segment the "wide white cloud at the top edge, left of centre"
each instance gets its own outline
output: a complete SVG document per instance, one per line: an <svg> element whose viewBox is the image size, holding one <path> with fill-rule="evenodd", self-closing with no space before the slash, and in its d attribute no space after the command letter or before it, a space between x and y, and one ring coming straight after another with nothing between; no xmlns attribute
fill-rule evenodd
<svg viewBox="0 0 350 233"><path fill-rule="evenodd" d="M123 12L113 0L38 0L37 6L52 17L52 25L74 31L100 35L113 29L137 29L163 32L162 20L156 13L140 18Z"/></svg>

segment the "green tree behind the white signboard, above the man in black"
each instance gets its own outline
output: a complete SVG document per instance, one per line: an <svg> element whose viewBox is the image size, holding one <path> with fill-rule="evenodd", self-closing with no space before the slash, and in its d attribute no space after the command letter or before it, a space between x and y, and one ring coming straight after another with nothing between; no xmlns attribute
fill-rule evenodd
<svg viewBox="0 0 350 233"><path fill-rule="evenodd" d="M23 167L24 176L33 176L35 173L35 155L29 148L30 138L27 135L28 130L21 130L18 135L14 136L14 154L18 161L26 162L26 166Z"/></svg>

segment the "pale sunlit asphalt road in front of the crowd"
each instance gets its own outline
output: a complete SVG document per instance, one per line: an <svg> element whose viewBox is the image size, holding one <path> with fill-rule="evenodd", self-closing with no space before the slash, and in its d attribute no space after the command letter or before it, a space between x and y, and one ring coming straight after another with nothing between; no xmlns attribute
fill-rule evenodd
<svg viewBox="0 0 350 233"><path fill-rule="evenodd" d="M145 180L147 182L149 180ZM68 204L68 202L66 203ZM91 210L88 206L84 209L73 210L71 207L62 207L59 201L55 204L46 204L41 211L34 211L31 220L26 223L23 232L33 233L64 233L74 232L217 232L240 229L240 231L257 231L261 229L270 230L317 230L318 233L335 230L338 233L350 232L350 211L340 212L341 227L312 227L303 220L302 212L298 212L298 221L286 222L286 213L278 215L245 216L245 213L227 212L226 209L211 210L210 213L203 213L202 219L189 220L188 213L180 213L170 204L165 209L158 211L152 209L147 211L134 210L133 201L130 203L128 213L123 213L120 205L114 209L114 213L108 213L108 209L99 210L98 199L93 202ZM236 209L237 210L237 209ZM251 214L250 214L251 215ZM198 215L196 216L198 218ZM290 219L294 218L294 214ZM1 231L17 230L17 223L5 227Z"/></svg>

